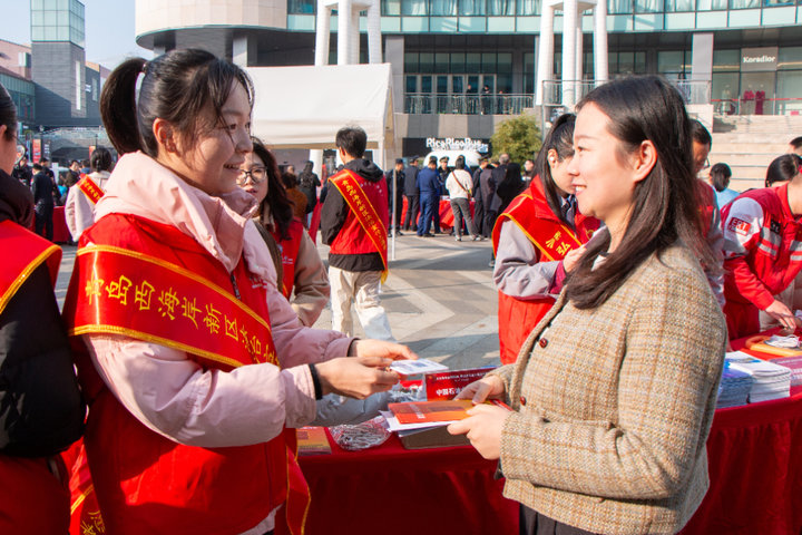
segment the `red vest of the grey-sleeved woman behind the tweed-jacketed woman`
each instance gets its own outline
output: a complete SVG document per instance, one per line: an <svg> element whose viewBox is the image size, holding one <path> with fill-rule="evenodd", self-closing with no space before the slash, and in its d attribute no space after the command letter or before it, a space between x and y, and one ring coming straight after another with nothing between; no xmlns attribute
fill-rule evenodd
<svg viewBox="0 0 802 535"><path fill-rule="evenodd" d="M577 213L574 217L576 231L564 224L551 212L542 192L540 178L531 181L529 189L518 195L507 210L498 216L492 232L493 252L498 250L501 224L509 220L535 245L539 261L563 260L568 251L587 243L598 228L599 222ZM521 300L498 292L498 323L501 363L509 364L518 358L529 332L549 311L552 298Z"/></svg>

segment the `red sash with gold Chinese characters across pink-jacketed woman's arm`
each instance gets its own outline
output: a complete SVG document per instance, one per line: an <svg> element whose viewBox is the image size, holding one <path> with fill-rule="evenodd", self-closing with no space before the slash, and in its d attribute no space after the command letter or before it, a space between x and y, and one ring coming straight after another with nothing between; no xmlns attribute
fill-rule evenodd
<svg viewBox="0 0 802 535"><path fill-rule="evenodd" d="M277 366L270 324L212 281L109 245L84 247L76 262L84 299L74 312L70 335L124 334L226 369L258 362Z"/></svg>

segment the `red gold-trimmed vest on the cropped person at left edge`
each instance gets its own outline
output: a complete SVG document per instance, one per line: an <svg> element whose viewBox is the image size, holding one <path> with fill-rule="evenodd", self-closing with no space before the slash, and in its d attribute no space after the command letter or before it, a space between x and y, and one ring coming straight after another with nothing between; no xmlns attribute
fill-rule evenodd
<svg viewBox="0 0 802 535"><path fill-rule="evenodd" d="M56 284L61 249L11 221L0 223L0 314L42 263ZM48 467L47 458L0 455L0 533L65 533L69 495Z"/></svg>

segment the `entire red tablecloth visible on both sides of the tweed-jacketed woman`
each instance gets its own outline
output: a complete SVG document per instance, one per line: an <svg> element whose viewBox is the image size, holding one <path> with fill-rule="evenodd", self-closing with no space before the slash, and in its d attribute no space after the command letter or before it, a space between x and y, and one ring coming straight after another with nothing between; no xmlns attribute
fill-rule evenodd
<svg viewBox="0 0 802 535"><path fill-rule="evenodd" d="M518 504L501 496L496 463L471 447L407 450L393 436L361 453L332 449L301 458L309 535L518 533ZM802 387L717 410L707 456L710 490L682 535L802 533Z"/></svg>

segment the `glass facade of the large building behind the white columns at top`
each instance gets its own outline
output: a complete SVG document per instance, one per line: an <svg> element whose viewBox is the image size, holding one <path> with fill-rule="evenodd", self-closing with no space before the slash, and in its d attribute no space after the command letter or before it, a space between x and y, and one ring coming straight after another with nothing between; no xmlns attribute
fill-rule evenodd
<svg viewBox="0 0 802 535"><path fill-rule="evenodd" d="M713 33L708 81L717 111L802 113L802 0L606 1L610 77L689 80L693 36ZM314 31L315 7L315 0L287 0L287 29ZM404 39L404 96L535 93L541 0L382 0L381 13L382 33ZM561 19L557 11L547 79L561 78ZM583 78L593 80L593 17L584 17L583 28ZM775 61L762 70L742 68L746 50L761 47ZM764 105L742 109L759 91Z"/></svg>

